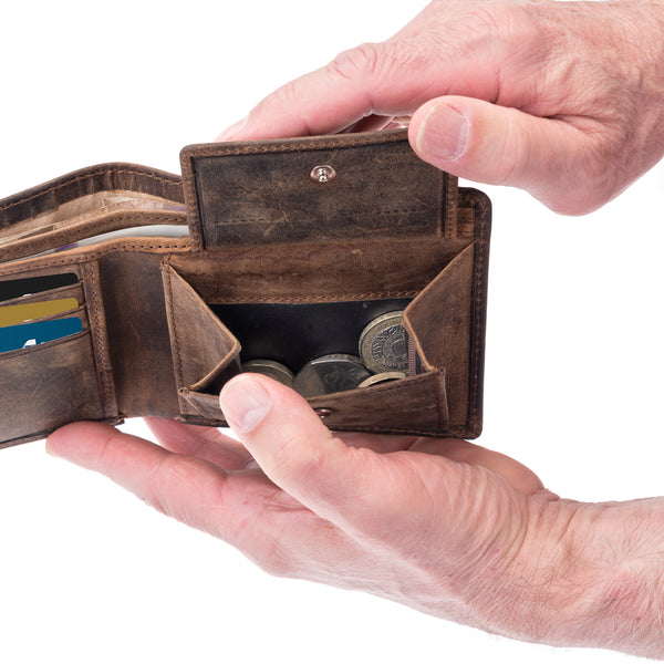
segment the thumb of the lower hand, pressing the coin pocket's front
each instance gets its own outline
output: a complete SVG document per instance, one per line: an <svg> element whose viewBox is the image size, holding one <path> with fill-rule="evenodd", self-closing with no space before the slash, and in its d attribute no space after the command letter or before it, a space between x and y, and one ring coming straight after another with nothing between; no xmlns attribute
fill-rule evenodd
<svg viewBox="0 0 664 664"><path fill-rule="evenodd" d="M225 418L263 473L299 502L334 523L367 506L367 486L382 455L335 438L294 391L245 374L224 386Z"/></svg>

